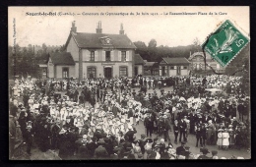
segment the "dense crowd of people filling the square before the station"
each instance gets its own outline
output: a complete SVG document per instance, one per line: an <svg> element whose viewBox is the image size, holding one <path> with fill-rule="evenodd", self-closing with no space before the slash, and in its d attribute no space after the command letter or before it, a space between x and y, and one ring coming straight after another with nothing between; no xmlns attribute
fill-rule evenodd
<svg viewBox="0 0 256 167"><path fill-rule="evenodd" d="M250 146L248 119L236 117L236 110L244 116L250 108L239 81L224 75L15 80L9 136L17 135L20 126L29 154L36 145L41 151L58 150L62 159L218 159L217 150L207 156L207 145L224 150ZM165 90L168 86L173 91ZM145 126L140 139L139 124ZM201 147L201 155L189 151L190 138L196 138L193 146Z"/></svg>

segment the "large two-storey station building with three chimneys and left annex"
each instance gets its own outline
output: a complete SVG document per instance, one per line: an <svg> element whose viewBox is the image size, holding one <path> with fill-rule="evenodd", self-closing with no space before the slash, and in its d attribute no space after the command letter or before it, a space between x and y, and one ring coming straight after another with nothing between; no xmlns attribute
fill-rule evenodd
<svg viewBox="0 0 256 167"><path fill-rule="evenodd" d="M77 32L75 22L65 44L66 53L51 54L48 62L49 78L132 78L141 73L134 65L136 46L124 34L102 33L98 22L96 33ZM62 57L63 56L63 57ZM58 62L60 61L60 62Z"/></svg>

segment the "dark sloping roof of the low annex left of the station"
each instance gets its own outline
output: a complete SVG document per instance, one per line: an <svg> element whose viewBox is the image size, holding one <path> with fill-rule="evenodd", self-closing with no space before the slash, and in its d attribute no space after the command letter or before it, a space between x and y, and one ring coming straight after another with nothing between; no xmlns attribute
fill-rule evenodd
<svg viewBox="0 0 256 167"><path fill-rule="evenodd" d="M75 65L70 52L50 53L50 59L54 65Z"/></svg>

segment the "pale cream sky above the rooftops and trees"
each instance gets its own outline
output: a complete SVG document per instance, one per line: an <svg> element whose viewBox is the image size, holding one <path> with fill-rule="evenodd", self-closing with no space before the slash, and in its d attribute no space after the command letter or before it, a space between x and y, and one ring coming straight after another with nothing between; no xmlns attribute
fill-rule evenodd
<svg viewBox="0 0 256 167"><path fill-rule="evenodd" d="M30 16L38 12L52 12L57 16ZM58 16L60 12L62 15ZM181 12L196 15L169 15ZM209 15L210 12L214 15ZM98 16L88 15L92 13ZM110 13L128 15L109 16ZM148 45L154 38L158 46L185 46L192 44L195 38L203 43L227 19L245 35L249 34L249 7L9 7L8 43L63 45L73 21L76 21L78 32L93 33L100 21L103 33L119 33L123 24L124 32L133 42L143 41Z"/></svg>

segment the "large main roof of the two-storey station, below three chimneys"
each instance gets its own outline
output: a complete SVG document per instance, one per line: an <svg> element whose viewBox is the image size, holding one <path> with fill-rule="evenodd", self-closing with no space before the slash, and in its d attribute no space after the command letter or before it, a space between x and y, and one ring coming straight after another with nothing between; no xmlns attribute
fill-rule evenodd
<svg viewBox="0 0 256 167"><path fill-rule="evenodd" d="M67 40L66 46L73 36L78 47L80 48L102 48L112 46L114 48L135 49L136 46L125 34L108 34L108 33L87 33L87 32L71 32ZM102 38L109 38L110 43L106 45Z"/></svg>

